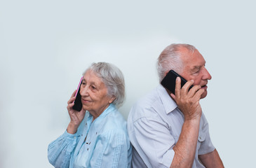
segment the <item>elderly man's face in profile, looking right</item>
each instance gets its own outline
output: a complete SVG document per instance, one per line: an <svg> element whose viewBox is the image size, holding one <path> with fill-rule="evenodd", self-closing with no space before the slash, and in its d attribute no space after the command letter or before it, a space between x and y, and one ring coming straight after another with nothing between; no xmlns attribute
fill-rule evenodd
<svg viewBox="0 0 256 168"><path fill-rule="evenodd" d="M180 75L186 80L193 79L193 85L201 85L201 87L205 90L205 92L203 92L201 95L201 99L203 99L207 95L208 80L212 78L205 67L205 59L203 59L203 56L200 54L200 52L198 52L198 50L194 50L194 53L192 53L186 48L182 48L181 58L184 68Z"/></svg>

